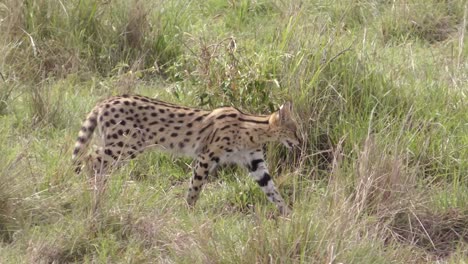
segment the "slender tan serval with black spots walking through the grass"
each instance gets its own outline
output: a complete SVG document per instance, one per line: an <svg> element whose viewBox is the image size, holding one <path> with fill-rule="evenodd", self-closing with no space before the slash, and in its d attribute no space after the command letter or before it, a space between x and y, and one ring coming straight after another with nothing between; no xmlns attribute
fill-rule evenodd
<svg viewBox="0 0 468 264"><path fill-rule="evenodd" d="M271 180L262 146L271 141L288 148L299 144L297 124L291 114L289 102L270 115L250 115L233 107L206 111L139 95L111 97L88 114L73 160L77 164L86 160L90 171L102 175L147 149L193 157L189 205L195 204L209 173L220 164L238 164L249 170L268 199L285 214L288 207ZM100 147L80 158L96 129Z"/></svg>

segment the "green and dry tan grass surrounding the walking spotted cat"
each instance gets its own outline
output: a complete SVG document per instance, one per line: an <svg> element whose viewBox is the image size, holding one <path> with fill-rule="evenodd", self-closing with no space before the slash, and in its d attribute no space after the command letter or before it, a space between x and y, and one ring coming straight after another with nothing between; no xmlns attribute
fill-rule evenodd
<svg viewBox="0 0 468 264"><path fill-rule="evenodd" d="M0 262L468 262L467 18L461 0L4 1ZM154 152L93 190L74 140L121 93L292 100L303 149L267 156L293 213L235 168L189 209L191 161Z"/></svg>

